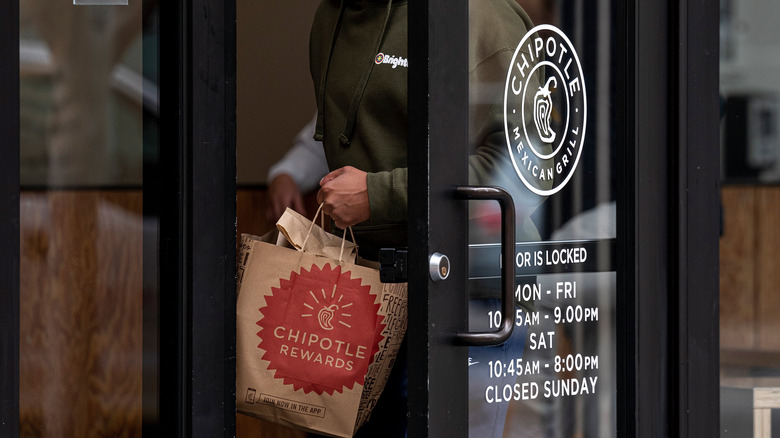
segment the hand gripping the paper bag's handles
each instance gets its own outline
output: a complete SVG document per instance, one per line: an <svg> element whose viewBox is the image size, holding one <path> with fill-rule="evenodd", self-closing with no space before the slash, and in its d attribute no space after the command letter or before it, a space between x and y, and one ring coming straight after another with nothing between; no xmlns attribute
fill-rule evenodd
<svg viewBox="0 0 780 438"><path fill-rule="evenodd" d="M339 228L368 220L368 186L366 172L351 166L336 169L320 180L317 202Z"/></svg>

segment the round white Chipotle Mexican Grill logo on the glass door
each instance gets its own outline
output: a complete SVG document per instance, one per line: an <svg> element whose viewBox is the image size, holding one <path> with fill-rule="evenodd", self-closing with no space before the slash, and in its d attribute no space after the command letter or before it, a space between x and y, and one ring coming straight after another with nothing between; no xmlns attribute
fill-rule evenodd
<svg viewBox="0 0 780 438"><path fill-rule="evenodd" d="M569 182L587 125L582 66L571 41L542 24L520 41L504 89L504 132L517 176L549 196Z"/></svg>

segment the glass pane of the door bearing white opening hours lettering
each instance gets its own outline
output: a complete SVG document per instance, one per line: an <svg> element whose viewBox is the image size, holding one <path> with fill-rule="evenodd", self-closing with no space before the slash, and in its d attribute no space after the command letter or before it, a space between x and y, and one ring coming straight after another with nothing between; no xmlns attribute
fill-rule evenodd
<svg viewBox="0 0 780 438"><path fill-rule="evenodd" d="M469 436L614 437L615 12L608 1L518 3L530 21L511 62L482 58L475 41L503 34L470 11L469 184L509 192L517 225L515 259L502 260L498 204L469 204L469 330L501 326L503 263L515 267L517 306L506 343L469 347ZM485 138L485 113L501 109L503 135ZM486 165L496 143L509 159Z"/></svg>

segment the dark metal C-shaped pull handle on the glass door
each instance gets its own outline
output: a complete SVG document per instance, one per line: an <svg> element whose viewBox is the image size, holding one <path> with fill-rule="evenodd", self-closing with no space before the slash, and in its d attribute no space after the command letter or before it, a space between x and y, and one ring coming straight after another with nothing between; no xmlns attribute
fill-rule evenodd
<svg viewBox="0 0 780 438"><path fill-rule="evenodd" d="M501 327L495 332L458 333L460 344L473 346L500 345L512 335L515 309L515 203L506 190L499 187L459 186L455 188L458 199L498 201L501 207Z"/></svg>

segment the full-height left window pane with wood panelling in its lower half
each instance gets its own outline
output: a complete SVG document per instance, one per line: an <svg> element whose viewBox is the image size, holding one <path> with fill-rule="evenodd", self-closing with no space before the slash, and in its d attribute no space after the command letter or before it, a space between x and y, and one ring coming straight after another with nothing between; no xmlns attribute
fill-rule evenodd
<svg viewBox="0 0 780 438"><path fill-rule="evenodd" d="M142 434L153 11L20 2L21 436Z"/></svg>

